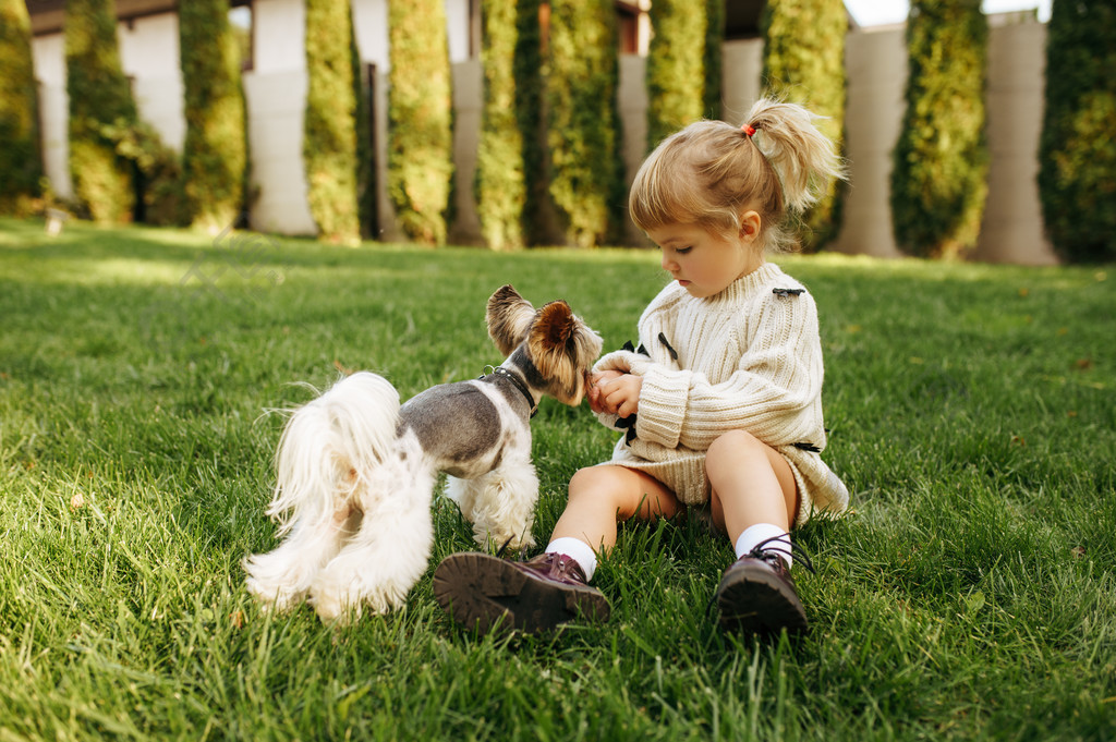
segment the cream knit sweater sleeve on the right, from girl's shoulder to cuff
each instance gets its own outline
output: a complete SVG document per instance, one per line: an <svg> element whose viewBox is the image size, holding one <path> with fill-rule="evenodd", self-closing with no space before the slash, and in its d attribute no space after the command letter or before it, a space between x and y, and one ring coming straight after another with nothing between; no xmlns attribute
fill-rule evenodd
<svg viewBox="0 0 1116 742"><path fill-rule="evenodd" d="M769 296L758 302L750 320L747 326L737 322L732 336L739 348L709 350L737 358L734 368L720 374L720 383L701 372L633 359L632 373L643 376L637 424L642 441L704 451L723 433L745 430L773 446L825 445L821 348L812 298Z"/></svg>

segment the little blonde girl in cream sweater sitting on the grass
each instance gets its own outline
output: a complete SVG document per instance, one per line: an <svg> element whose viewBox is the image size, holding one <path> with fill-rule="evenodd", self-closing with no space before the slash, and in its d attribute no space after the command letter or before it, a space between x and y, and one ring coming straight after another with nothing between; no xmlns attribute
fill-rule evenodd
<svg viewBox="0 0 1116 742"><path fill-rule="evenodd" d="M629 518L708 508L737 561L716 589L727 629L806 628L789 530L838 513L848 491L821 461L817 307L764 252L835 177L833 143L801 106L760 100L747 123L698 122L665 139L632 186L632 219L673 279L639 318L639 347L605 355L589 405L624 431L612 461L578 471L546 552L526 562L448 557L434 594L460 623L533 633L604 619L588 585Z"/></svg>

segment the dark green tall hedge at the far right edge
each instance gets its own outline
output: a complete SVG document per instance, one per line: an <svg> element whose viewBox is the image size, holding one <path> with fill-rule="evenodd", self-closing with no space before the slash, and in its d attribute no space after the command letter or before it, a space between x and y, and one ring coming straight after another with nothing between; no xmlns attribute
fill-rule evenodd
<svg viewBox="0 0 1116 742"><path fill-rule="evenodd" d="M1056 0L1039 145L1042 218L1071 261L1116 260L1116 6Z"/></svg>

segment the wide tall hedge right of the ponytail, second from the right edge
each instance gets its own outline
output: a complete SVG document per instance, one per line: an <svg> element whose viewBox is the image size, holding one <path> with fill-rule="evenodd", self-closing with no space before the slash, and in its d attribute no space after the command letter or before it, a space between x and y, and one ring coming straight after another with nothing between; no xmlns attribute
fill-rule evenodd
<svg viewBox="0 0 1116 742"><path fill-rule="evenodd" d="M963 256L977 244L988 192L980 0L914 0L906 41L906 114L892 170L895 240L912 256Z"/></svg>

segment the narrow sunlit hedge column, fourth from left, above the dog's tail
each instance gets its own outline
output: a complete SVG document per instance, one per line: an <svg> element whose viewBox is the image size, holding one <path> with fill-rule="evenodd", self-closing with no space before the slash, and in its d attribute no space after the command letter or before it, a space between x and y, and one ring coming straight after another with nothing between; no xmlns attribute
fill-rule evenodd
<svg viewBox="0 0 1116 742"><path fill-rule="evenodd" d="M360 241L352 23L348 0L306 0L307 201L318 238L341 244Z"/></svg>

